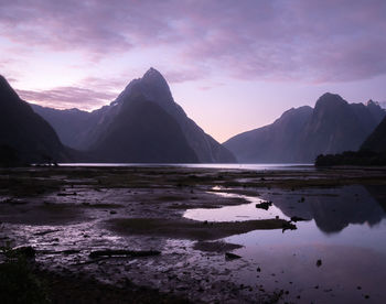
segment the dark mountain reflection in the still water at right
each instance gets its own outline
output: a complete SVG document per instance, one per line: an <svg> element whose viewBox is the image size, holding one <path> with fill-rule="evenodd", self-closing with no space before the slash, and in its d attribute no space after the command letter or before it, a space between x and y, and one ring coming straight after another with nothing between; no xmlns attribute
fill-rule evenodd
<svg viewBox="0 0 386 304"><path fill-rule="evenodd" d="M377 186L371 191L382 193ZM287 217L314 219L318 228L326 234L339 232L350 224L373 227L386 217L385 208L362 185L283 195L267 193L265 198L272 200Z"/></svg>

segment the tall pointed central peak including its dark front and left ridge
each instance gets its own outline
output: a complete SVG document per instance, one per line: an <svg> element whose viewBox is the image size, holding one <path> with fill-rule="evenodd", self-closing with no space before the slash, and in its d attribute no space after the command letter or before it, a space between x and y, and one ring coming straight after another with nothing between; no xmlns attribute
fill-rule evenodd
<svg viewBox="0 0 386 304"><path fill-rule="evenodd" d="M137 102L140 105L135 105ZM98 152L99 160L137 160L133 155L141 151L139 154L143 158L140 162L154 162L156 159L150 158L154 156L154 151L148 149L157 148L160 152L157 162L235 162L227 149L186 116L174 101L167 80L154 68L150 68L142 78L131 80L109 106L93 112L36 106L34 110L52 123L63 142L74 149ZM167 130L174 141L165 138ZM114 158L115 153L120 156Z"/></svg>

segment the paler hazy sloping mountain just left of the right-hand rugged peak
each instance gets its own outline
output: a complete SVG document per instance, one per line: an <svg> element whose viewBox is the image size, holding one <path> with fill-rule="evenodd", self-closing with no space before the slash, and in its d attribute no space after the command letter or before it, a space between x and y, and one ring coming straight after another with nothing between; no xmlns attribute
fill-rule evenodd
<svg viewBox="0 0 386 304"><path fill-rule="evenodd" d="M312 108L304 106L282 113L274 123L240 133L224 143L242 163L299 161L300 137Z"/></svg>

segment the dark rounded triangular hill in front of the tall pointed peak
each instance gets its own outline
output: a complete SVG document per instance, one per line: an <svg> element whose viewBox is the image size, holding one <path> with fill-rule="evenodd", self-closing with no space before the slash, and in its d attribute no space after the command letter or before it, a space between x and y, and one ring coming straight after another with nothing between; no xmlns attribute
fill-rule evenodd
<svg viewBox="0 0 386 304"><path fill-rule="evenodd" d="M143 96L122 105L90 151L107 162L197 162L175 119Z"/></svg>

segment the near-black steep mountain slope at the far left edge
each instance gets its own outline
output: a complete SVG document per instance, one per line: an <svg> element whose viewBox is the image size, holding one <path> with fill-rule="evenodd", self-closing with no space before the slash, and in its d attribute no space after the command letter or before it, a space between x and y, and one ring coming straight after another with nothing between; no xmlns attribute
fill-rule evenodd
<svg viewBox="0 0 386 304"><path fill-rule="evenodd" d="M54 129L0 76L0 163L61 161L66 150Z"/></svg>

